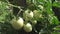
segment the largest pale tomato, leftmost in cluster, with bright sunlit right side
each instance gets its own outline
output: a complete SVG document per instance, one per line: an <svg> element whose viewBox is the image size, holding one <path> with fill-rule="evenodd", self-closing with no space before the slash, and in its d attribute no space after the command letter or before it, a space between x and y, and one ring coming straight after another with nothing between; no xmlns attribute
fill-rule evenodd
<svg viewBox="0 0 60 34"><path fill-rule="evenodd" d="M13 19L11 24L14 29L19 30L23 27L24 21L22 18L19 18L18 20Z"/></svg>

